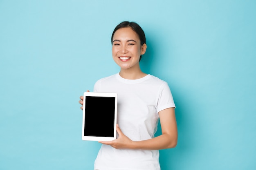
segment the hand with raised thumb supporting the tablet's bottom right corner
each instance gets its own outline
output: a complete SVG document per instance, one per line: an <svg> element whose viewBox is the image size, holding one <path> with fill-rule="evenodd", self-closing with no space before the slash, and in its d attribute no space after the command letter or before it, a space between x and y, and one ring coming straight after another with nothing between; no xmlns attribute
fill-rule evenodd
<svg viewBox="0 0 256 170"><path fill-rule="evenodd" d="M117 133L119 137L112 141L99 141L101 144L110 145L113 148L116 149L132 149L132 143L133 141L128 138L119 128L119 125L117 124Z"/></svg>

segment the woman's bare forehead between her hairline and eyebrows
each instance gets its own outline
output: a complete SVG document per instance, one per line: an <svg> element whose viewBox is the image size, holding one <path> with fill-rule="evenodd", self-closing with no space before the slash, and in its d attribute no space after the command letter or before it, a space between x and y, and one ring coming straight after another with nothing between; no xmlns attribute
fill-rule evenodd
<svg viewBox="0 0 256 170"><path fill-rule="evenodd" d="M130 27L118 29L113 36L113 40L117 39L139 39L139 36Z"/></svg>

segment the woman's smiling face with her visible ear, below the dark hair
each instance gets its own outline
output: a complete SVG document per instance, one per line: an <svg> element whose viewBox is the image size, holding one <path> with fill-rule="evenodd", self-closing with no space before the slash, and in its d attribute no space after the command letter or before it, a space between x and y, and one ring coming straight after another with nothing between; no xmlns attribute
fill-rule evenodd
<svg viewBox="0 0 256 170"><path fill-rule="evenodd" d="M113 36L112 57L121 69L139 68L139 57L146 52L139 36L130 27L118 29Z"/></svg>

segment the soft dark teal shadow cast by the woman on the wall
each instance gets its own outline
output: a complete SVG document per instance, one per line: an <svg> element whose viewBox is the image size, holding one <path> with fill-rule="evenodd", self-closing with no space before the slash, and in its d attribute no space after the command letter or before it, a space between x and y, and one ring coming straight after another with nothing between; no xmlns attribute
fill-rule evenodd
<svg viewBox="0 0 256 170"><path fill-rule="evenodd" d="M186 160L188 152L193 152L193 150L195 150L196 139L194 135L198 135L198 132L193 128L196 122L193 119L193 115L189 114L191 113L189 110L195 110L197 108L196 105L198 104L191 106L192 103L195 104L196 101L190 101L191 98L184 96L184 94L187 94L186 92L191 91L191 87L189 87L189 85L181 85L179 82L176 82L177 80L172 79L172 75L174 74L172 67L173 59L172 57L166 57L164 54L165 52L171 51L171 47L163 49L164 47L159 45L157 46L161 41L160 39L161 36L158 36L157 38L148 37L147 51L145 55L142 56L140 65L141 70L145 73L155 75L166 81L173 94L176 105L175 115L178 127L178 144L175 148L159 151L161 170L170 170L177 169L177 167L180 167L180 164L184 164L184 160ZM173 56L173 53L168 53L168 55ZM159 60L159 58L163 60ZM161 125L159 123L155 137L161 135L161 131Z"/></svg>

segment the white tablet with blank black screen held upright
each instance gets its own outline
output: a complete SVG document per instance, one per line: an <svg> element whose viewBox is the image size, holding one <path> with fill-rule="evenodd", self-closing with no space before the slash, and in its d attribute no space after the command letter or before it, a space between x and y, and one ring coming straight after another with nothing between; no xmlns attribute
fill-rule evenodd
<svg viewBox="0 0 256 170"><path fill-rule="evenodd" d="M82 140L116 139L117 93L83 93Z"/></svg>

